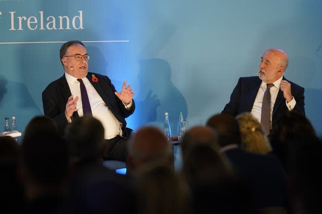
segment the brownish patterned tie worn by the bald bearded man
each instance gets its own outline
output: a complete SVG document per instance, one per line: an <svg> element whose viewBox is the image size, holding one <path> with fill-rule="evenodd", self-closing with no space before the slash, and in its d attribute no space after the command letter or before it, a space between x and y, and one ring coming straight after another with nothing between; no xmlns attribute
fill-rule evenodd
<svg viewBox="0 0 322 214"><path fill-rule="evenodd" d="M262 114L261 124L265 135L270 134L270 119L271 119L271 92L270 88L273 83L266 84L266 90L264 92L263 103L262 103Z"/></svg>

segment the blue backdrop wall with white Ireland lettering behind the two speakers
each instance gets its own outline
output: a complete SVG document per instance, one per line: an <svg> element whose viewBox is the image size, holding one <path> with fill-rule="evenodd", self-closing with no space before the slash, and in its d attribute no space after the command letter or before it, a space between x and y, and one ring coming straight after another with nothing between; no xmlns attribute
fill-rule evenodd
<svg viewBox="0 0 322 214"><path fill-rule="evenodd" d="M190 127L221 112L238 77L256 75L262 53L280 48L321 136L321 9L319 0L0 0L0 119L16 116L23 132L43 114L64 41L85 41L89 70L118 90L132 85L130 128L162 127L169 112L173 132L179 111Z"/></svg>

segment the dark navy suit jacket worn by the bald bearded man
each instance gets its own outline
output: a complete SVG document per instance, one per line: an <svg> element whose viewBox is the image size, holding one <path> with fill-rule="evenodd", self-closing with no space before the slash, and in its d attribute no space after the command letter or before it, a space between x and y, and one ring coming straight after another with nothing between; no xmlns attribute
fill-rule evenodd
<svg viewBox="0 0 322 214"><path fill-rule="evenodd" d="M287 80L284 77L283 79ZM240 77L230 95L230 101L225 105L225 108L221 113L229 113L233 116L237 116L240 113L251 112L261 82L262 80L258 76ZM304 88L291 81L288 82L291 83L291 92L296 101L296 105L292 111L305 115ZM274 124L276 118L285 112L288 112L288 109L285 104L283 91L280 89L273 108L272 124Z"/></svg>

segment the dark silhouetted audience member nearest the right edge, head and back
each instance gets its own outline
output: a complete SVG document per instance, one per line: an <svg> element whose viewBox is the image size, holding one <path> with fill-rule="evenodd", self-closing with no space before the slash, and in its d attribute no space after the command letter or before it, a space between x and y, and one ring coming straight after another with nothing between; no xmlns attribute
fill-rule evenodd
<svg viewBox="0 0 322 214"><path fill-rule="evenodd" d="M273 153L288 174L291 206L294 213L320 213L320 152L322 142L310 121L289 111L275 121L271 134Z"/></svg>

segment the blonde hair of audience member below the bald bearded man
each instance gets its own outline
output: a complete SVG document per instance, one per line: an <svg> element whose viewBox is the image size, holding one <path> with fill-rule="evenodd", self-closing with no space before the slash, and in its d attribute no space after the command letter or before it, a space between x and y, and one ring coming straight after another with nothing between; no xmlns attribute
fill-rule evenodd
<svg viewBox="0 0 322 214"><path fill-rule="evenodd" d="M267 154L272 151L268 138L265 136L261 124L251 113L236 116L240 131L240 146L246 151Z"/></svg>

